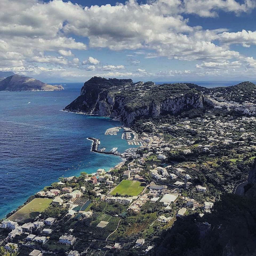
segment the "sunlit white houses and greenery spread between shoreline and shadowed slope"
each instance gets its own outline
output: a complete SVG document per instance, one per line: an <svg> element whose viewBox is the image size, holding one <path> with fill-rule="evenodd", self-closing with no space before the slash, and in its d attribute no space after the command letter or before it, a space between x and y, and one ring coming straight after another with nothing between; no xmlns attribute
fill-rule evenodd
<svg viewBox="0 0 256 256"><path fill-rule="evenodd" d="M144 255L184 216L198 214L202 235L213 229L214 203L247 179L256 157L256 118L213 109L167 121L146 120L151 133L136 134L142 145L110 170L59 178L32 196L1 222L2 245L30 256Z"/></svg>

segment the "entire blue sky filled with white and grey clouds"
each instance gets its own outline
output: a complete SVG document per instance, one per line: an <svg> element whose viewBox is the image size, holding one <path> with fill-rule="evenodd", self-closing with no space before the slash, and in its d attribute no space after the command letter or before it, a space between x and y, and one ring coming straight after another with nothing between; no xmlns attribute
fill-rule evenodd
<svg viewBox="0 0 256 256"><path fill-rule="evenodd" d="M1 0L0 71L41 81L256 80L256 0Z"/></svg>

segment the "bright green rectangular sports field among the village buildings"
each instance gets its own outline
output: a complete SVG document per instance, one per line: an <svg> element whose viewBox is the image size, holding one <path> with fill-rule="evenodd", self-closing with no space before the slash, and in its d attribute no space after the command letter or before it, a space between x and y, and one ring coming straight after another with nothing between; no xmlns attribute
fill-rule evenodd
<svg viewBox="0 0 256 256"><path fill-rule="evenodd" d="M145 186L141 184L139 181L129 181L123 179L111 192L111 195L115 195L116 193L120 195L138 195L144 189Z"/></svg>

